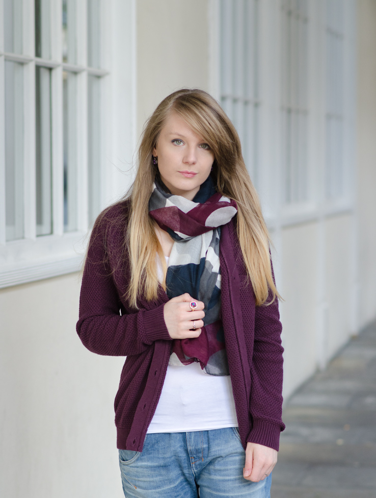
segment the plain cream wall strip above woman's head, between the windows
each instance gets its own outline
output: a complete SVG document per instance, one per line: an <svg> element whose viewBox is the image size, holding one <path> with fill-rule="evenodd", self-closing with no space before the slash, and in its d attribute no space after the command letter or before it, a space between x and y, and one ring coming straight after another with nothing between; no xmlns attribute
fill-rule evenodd
<svg viewBox="0 0 376 498"><path fill-rule="evenodd" d="M138 0L138 133L157 104L179 88L208 86L206 0Z"/></svg>

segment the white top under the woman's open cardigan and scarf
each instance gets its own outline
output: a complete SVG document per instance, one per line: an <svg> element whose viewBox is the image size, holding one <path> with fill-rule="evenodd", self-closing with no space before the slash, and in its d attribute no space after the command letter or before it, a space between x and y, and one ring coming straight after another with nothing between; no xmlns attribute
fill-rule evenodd
<svg viewBox="0 0 376 498"><path fill-rule="evenodd" d="M166 256L168 263L169 258ZM162 268L158 265L159 278ZM230 376L206 374L198 362L168 365L148 433L237 427Z"/></svg>

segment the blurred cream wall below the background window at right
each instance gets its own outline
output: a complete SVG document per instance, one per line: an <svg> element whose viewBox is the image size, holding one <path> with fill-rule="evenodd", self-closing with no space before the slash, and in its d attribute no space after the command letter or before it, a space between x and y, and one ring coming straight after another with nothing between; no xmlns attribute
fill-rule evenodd
<svg viewBox="0 0 376 498"><path fill-rule="evenodd" d="M285 301L280 307L286 399L325 366L354 332L353 219L353 214L342 214L282 230L279 264Z"/></svg>

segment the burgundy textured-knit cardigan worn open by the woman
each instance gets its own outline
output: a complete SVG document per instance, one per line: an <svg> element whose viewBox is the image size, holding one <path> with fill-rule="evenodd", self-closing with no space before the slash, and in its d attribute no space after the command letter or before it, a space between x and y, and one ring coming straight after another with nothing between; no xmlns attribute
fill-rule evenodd
<svg viewBox="0 0 376 498"><path fill-rule="evenodd" d="M99 355L126 356L115 397L117 447L142 451L169 363L172 339L164 320L168 297L139 300L139 310L122 297L130 278L119 268L124 230L111 219L127 210L122 202L95 223L79 300L77 333ZM279 448L282 413L281 322L278 300L255 306L233 221L221 229L222 321L239 433L247 441Z"/></svg>

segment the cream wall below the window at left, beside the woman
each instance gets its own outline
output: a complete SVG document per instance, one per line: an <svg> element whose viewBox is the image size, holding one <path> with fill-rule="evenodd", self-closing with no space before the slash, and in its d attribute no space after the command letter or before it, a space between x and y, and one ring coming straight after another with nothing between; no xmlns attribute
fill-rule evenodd
<svg viewBox="0 0 376 498"><path fill-rule="evenodd" d="M123 358L80 342L77 274L0 291L1 496L122 496L113 401Z"/></svg>

